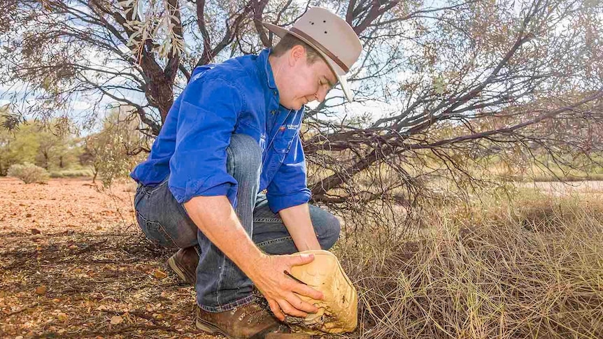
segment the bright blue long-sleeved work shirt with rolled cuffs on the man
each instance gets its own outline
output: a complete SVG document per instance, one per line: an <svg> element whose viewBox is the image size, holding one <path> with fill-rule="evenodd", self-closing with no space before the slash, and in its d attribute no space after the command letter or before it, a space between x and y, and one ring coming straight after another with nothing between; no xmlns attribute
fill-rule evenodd
<svg viewBox="0 0 603 339"><path fill-rule="evenodd" d="M253 137L262 149L260 191L278 212L310 200L299 129L304 108L280 106L269 49L194 69L174 101L148 159L130 174L155 186L169 175L178 203L194 196L227 196L236 207L237 182L226 170L232 134Z"/></svg>

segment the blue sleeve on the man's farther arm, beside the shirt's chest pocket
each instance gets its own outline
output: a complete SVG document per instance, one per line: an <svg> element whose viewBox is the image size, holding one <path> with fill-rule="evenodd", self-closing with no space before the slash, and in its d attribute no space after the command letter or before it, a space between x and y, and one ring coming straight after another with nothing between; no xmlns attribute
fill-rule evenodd
<svg viewBox="0 0 603 339"><path fill-rule="evenodd" d="M270 210L278 213L310 201L311 192L306 185L306 157L297 133L283 164L268 185L266 196Z"/></svg>

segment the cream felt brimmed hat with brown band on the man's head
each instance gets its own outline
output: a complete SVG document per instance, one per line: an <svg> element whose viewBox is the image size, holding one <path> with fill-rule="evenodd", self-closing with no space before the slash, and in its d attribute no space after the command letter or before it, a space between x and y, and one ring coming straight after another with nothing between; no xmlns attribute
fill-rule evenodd
<svg viewBox="0 0 603 339"><path fill-rule="evenodd" d="M325 8L313 7L309 8L290 29L268 22L262 24L281 38L285 34L292 34L311 45L325 58L339 80L346 98L352 101L346 73L360 56L362 45L346 20Z"/></svg>

